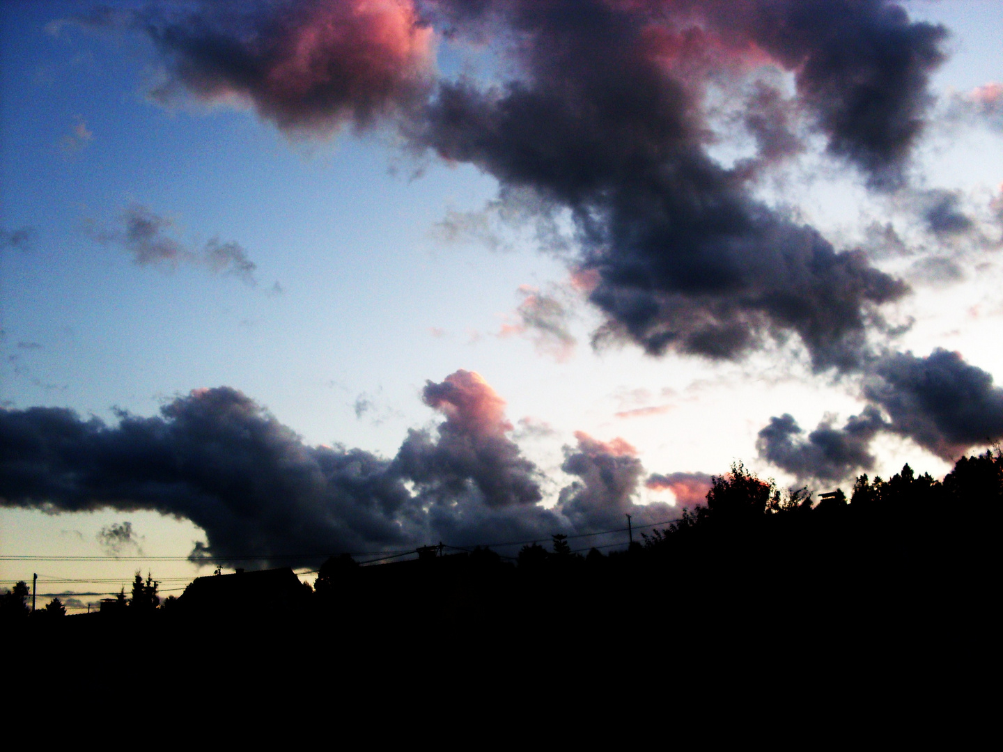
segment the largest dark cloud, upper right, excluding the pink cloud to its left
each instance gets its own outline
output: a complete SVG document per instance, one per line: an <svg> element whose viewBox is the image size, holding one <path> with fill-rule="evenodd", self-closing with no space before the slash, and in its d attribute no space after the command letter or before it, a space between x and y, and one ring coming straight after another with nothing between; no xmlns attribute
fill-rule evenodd
<svg viewBox="0 0 1003 752"><path fill-rule="evenodd" d="M922 129L943 30L878 2L679 3L671 18L644 2L446 5L460 33L518 29L522 75L441 82L415 137L571 211L578 268L598 274L590 300L608 318L597 343L723 359L793 332L816 367L860 365L874 309L907 287L754 200L709 156L701 95L710 69L765 52L794 71L829 149L890 184ZM767 100L750 123L780 106ZM759 136L773 156L794 148Z"/></svg>

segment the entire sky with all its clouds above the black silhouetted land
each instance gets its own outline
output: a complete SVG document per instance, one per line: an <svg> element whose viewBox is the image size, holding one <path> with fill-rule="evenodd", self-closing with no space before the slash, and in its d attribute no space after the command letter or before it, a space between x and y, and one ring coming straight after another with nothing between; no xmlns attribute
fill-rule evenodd
<svg viewBox="0 0 1003 752"><path fill-rule="evenodd" d="M0 588L622 543L1003 435L997 2L0 24Z"/></svg>

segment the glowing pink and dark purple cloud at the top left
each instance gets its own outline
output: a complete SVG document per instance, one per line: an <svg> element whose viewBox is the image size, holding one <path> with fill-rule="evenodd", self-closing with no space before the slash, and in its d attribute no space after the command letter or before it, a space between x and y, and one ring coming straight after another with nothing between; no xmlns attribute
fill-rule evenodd
<svg viewBox="0 0 1003 752"><path fill-rule="evenodd" d="M155 99L247 104L292 134L409 110L432 67L432 31L408 0L190 3L109 20L122 23L162 55Z"/></svg>

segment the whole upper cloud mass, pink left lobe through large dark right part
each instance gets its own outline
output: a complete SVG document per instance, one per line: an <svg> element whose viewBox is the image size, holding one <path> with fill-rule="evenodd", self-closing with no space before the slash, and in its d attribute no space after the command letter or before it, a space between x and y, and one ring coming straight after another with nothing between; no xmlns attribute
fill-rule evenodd
<svg viewBox="0 0 1003 752"><path fill-rule="evenodd" d="M569 215L569 262L607 319L597 345L720 360L793 334L815 368L853 370L878 309L908 292L751 185L806 128L873 189L905 184L947 31L891 0L196 2L80 23L152 39L161 99L250 104L319 136L389 119L410 153L491 174L493 209L515 202L542 239ZM493 44L499 64L487 80L436 77L436 34ZM792 96L769 82L777 70ZM722 89L751 92L730 109L755 154L731 167L710 152ZM956 221L945 209L932 226ZM485 223L451 214L439 230L494 243Z"/></svg>

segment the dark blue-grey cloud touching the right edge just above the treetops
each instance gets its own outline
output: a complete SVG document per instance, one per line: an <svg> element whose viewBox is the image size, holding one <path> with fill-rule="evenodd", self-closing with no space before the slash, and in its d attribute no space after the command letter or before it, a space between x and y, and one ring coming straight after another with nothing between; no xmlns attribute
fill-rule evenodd
<svg viewBox="0 0 1003 752"><path fill-rule="evenodd" d="M864 394L888 412L890 430L945 459L1003 436L1003 389L955 352L888 355L875 364Z"/></svg>

